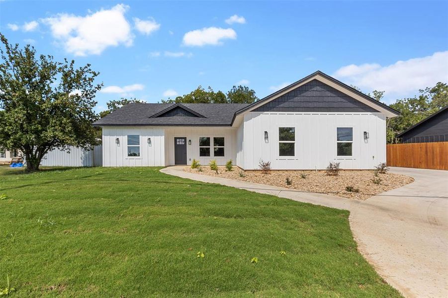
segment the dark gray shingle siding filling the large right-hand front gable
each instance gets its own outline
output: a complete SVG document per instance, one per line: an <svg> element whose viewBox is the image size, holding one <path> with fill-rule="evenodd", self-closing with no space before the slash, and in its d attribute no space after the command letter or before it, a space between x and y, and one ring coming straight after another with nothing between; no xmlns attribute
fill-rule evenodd
<svg viewBox="0 0 448 298"><path fill-rule="evenodd" d="M256 112L378 112L372 107L313 79L256 108Z"/></svg>

